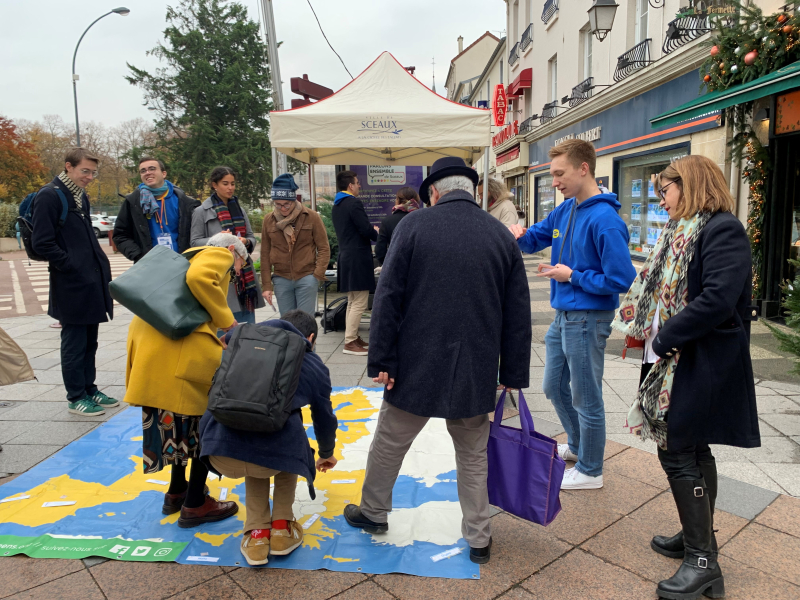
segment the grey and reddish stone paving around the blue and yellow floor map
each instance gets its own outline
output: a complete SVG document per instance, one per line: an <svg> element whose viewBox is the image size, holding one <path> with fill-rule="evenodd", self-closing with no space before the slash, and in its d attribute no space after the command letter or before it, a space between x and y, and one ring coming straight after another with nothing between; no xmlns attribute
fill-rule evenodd
<svg viewBox="0 0 800 600"><path fill-rule="evenodd" d="M537 428L562 439L555 412L541 393L541 342L552 310L548 282L534 276L539 260L526 258L534 344L531 386L525 395ZM15 267L19 272L23 265ZM0 268L9 266L3 261ZM13 296L14 291L10 293ZM105 393L121 399L131 315L124 310L118 313L100 329L97 381ZM258 318L273 314L267 307ZM94 419L67 412L59 365L60 333L49 327L51 323L42 314L0 319L0 327L28 353L38 378L0 388L0 444L4 446L0 485L124 410L123 405ZM791 361L777 351L768 330L756 324L753 333L762 447L713 448L721 474L715 524L720 530L720 562L729 600L796 600L800 598L800 382L787 374ZM366 321L362 337L368 338ZM366 359L343 355L342 343L340 332L321 334L317 345L331 370L333 385L373 386L365 374ZM672 534L680 526L655 446L638 442L623 427L638 383L640 357L623 361L621 349L622 340L615 334L608 342L604 377L605 487L562 493L563 511L547 528L497 512L492 518L492 560L481 569L480 581L11 557L0 559L0 598L655 598L655 583L669 577L678 562L652 552L650 538L656 533ZM504 422L518 423L510 406Z"/></svg>

